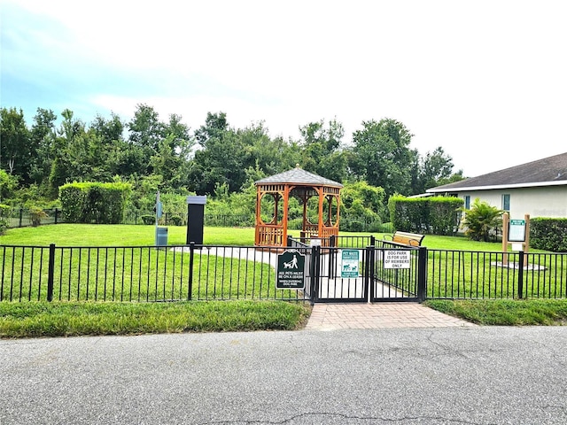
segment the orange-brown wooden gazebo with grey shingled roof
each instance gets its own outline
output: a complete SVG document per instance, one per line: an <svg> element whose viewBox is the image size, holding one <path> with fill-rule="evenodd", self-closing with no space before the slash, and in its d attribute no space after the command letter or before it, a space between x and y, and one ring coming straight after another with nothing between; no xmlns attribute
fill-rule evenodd
<svg viewBox="0 0 567 425"><path fill-rule="evenodd" d="M327 245L330 236L338 236L340 189L343 185L308 173L296 166L284 173L266 177L256 186L256 246L286 246L290 224L290 198L299 198L303 220L299 236L321 238ZM315 204L316 202L316 204ZM311 208L308 208L308 205ZM308 217L309 210L317 217ZM312 222L311 220L315 221Z"/></svg>

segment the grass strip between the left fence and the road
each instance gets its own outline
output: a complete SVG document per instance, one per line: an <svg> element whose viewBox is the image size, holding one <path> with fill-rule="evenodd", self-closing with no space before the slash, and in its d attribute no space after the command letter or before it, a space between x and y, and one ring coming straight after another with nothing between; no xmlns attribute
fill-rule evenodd
<svg viewBox="0 0 567 425"><path fill-rule="evenodd" d="M303 303L0 303L0 337L138 335L302 328Z"/></svg>

